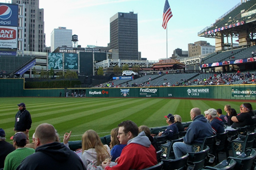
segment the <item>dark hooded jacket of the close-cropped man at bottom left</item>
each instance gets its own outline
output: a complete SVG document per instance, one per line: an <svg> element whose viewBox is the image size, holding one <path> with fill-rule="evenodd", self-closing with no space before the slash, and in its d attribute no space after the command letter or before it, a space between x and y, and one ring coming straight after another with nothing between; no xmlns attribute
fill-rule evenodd
<svg viewBox="0 0 256 170"><path fill-rule="evenodd" d="M85 169L82 160L63 143L53 142L39 146L35 154L27 156L16 170Z"/></svg>

